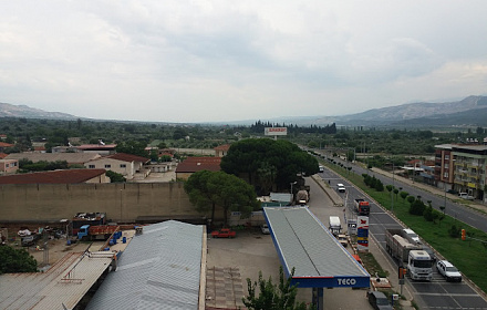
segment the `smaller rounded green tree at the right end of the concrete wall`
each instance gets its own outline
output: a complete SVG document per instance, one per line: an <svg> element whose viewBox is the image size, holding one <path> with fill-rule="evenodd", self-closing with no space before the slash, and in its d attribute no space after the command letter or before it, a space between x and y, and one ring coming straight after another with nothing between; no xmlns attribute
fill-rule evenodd
<svg viewBox="0 0 487 310"><path fill-rule="evenodd" d="M228 210L240 211L248 217L252 210L259 209L253 187L235 175L201 170L194 173L184 186L198 211L211 210L211 221L216 206L224 208L225 224Z"/></svg>

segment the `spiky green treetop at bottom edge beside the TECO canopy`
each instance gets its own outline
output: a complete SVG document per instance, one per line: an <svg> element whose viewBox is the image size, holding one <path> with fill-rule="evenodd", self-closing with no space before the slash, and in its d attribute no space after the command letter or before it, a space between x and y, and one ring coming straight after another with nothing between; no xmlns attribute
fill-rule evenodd
<svg viewBox="0 0 487 310"><path fill-rule="evenodd" d="M242 298L244 304L249 310L307 310L314 309L313 306L307 306L304 302L297 302L296 296L298 293L297 286L291 286L291 279L294 275L294 268L288 279L284 279L282 266L279 268L279 285L262 278L262 272L259 271L259 280L252 281L247 278L247 287L249 296ZM257 296L257 288L259 296Z"/></svg>

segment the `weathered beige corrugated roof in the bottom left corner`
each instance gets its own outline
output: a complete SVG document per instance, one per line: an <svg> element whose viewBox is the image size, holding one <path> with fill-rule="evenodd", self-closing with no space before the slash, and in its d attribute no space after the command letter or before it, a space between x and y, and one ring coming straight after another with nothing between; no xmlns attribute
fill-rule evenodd
<svg viewBox="0 0 487 310"><path fill-rule="evenodd" d="M112 262L112 252L69 254L46 272L0 276L0 309L74 308Z"/></svg>

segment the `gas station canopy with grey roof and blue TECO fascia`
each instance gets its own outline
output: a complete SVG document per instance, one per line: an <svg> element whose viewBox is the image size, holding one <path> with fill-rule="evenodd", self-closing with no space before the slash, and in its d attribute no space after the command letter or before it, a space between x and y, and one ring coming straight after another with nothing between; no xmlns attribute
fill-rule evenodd
<svg viewBox="0 0 487 310"><path fill-rule="evenodd" d="M301 288L370 286L370 275L308 207L263 208L286 275Z"/></svg>

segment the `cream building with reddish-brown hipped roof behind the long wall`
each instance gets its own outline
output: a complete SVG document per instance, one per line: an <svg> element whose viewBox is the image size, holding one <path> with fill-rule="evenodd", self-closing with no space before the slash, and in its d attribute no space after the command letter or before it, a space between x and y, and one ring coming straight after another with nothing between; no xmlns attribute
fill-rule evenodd
<svg viewBox="0 0 487 310"><path fill-rule="evenodd" d="M84 166L89 169L112 170L127 179L132 179L136 173L142 172L144 164L147 164L149 161L149 158L142 156L117 153L86 162Z"/></svg>

